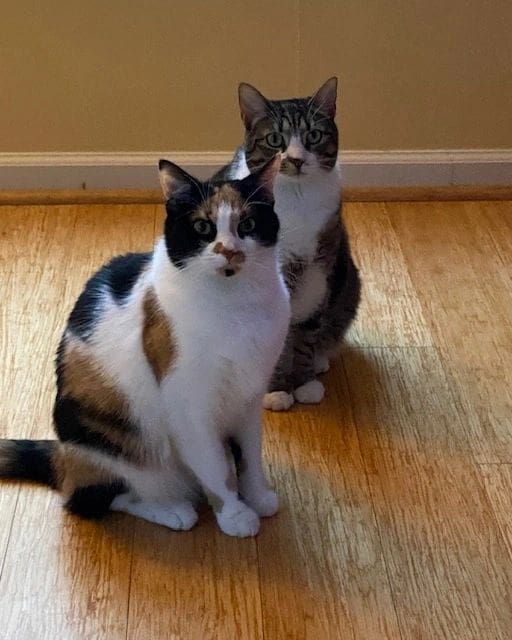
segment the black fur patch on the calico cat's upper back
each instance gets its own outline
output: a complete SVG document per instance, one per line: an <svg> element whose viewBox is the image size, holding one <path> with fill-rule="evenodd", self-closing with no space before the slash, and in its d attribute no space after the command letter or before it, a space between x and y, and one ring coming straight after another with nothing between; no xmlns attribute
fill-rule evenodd
<svg viewBox="0 0 512 640"><path fill-rule="evenodd" d="M150 253L128 253L113 258L95 273L88 280L69 316L69 327L73 333L86 340L93 332L101 312L104 292L109 291L116 302L122 304L150 260Z"/></svg>

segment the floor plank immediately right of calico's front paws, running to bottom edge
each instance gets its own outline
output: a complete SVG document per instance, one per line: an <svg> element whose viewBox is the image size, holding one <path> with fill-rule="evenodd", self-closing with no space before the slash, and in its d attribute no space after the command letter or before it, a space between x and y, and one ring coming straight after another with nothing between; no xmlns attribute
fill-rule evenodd
<svg viewBox="0 0 512 640"><path fill-rule="evenodd" d="M400 638L344 375L318 407L266 414L281 510L258 536L265 638Z"/></svg>

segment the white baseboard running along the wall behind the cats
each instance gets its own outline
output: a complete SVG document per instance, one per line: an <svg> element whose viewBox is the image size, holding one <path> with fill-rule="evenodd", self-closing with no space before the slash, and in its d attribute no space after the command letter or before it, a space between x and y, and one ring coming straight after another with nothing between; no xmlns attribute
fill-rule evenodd
<svg viewBox="0 0 512 640"><path fill-rule="evenodd" d="M0 189L151 189L168 158L206 179L229 151L0 153ZM512 149L343 151L345 187L512 185Z"/></svg>

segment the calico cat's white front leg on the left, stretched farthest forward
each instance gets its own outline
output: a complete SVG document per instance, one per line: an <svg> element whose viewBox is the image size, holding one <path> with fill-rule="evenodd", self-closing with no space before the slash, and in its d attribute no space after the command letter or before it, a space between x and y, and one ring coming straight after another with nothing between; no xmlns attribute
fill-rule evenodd
<svg viewBox="0 0 512 640"><path fill-rule="evenodd" d="M215 426L182 423L177 444L183 462L201 484L222 531L239 538L255 536L260 526L258 514L238 496L236 476Z"/></svg>

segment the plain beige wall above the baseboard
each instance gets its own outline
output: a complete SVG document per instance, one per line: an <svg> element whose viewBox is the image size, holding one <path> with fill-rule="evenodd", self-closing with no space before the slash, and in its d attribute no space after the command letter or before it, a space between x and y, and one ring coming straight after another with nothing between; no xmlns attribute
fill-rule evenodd
<svg viewBox="0 0 512 640"><path fill-rule="evenodd" d="M345 149L512 147L512 0L19 0L0 152L227 150L236 86L340 77Z"/></svg>

